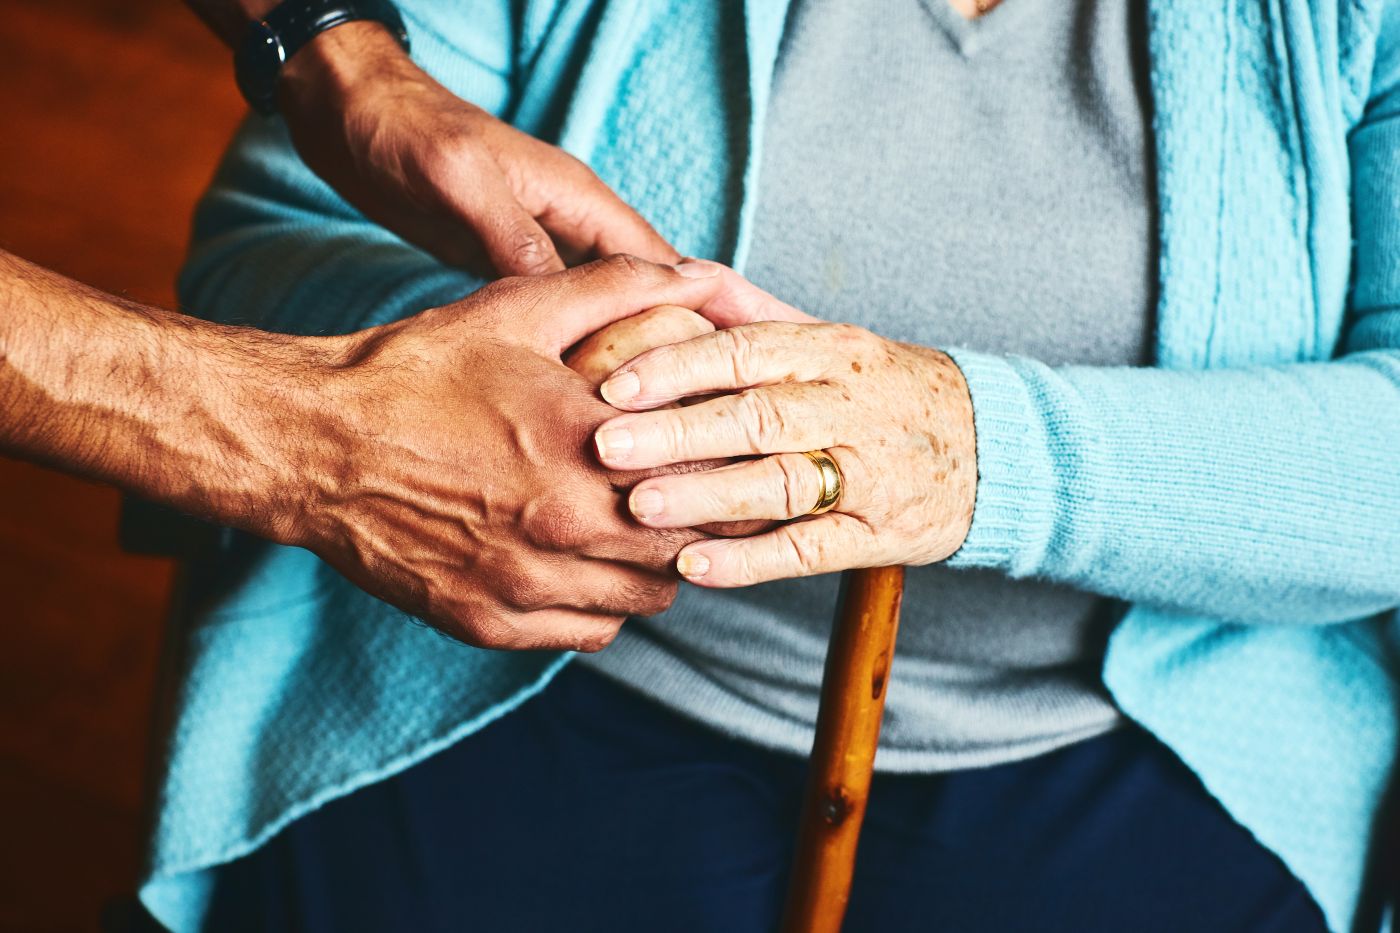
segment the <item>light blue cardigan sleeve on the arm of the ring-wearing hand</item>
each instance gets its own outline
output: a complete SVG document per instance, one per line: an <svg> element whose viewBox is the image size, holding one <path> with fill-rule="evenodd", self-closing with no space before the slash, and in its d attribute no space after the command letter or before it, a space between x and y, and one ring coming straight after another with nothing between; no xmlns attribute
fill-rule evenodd
<svg viewBox="0 0 1400 933"><path fill-rule="evenodd" d="M1400 605L1400 4L1350 136L1354 287L1327 361L1051 368L951 350L979 489L953 566L1239 622Z"/></svg>

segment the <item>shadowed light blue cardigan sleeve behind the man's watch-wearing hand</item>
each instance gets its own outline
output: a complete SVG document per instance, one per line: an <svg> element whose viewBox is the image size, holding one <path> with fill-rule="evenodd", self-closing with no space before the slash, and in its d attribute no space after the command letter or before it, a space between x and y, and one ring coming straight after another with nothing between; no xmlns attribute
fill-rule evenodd
<svg viewBox="0 0 1400 933"><path fill-rule="evenodd" d="M518 1L400 7L419 64L483 109L508 108L521 53ZM456 18L469 18L472 29L454 28ZM249 116L196 212L179 298L225 324L344 333L480 284L350 207L302 164L281 120Z"/></svg>

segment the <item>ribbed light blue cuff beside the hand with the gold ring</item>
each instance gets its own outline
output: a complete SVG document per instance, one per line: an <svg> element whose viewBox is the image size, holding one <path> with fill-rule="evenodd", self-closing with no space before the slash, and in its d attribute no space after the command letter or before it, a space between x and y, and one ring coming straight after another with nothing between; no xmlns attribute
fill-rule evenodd
<svg viewBox="0 0 1400 933"><path fill-rule="evenodd" d="M1036 573L1054 524L1054 469L1030 391L1005 357L946 350L972 394L977 504L953 567Z"/></svg>

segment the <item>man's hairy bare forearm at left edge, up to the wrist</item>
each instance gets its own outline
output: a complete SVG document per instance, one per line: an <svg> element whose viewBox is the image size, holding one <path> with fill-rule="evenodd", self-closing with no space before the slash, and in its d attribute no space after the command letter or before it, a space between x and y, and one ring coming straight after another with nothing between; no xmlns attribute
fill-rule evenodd
<svg viewBox="0 0 1400 933"><path fill-rule="evenodd" d="M281 537L295 478L325 452L307 424L333 410L318 389L339 347L136 305L0 252L0 451Z"/></svg>

